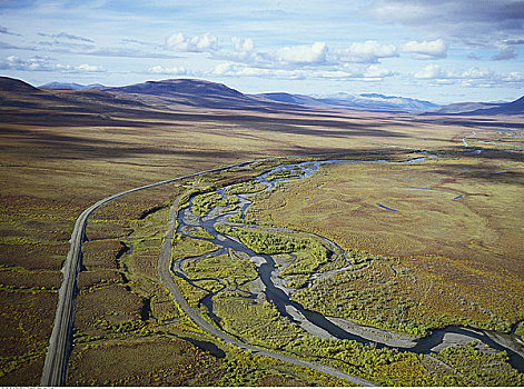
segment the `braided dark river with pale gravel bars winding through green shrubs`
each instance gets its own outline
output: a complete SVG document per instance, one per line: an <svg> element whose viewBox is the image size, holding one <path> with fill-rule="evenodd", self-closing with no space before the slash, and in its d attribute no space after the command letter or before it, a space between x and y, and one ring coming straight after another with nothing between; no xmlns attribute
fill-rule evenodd
<svg viewBox="0 0 524 389"><path fill-rule="evenodd" d="M434 158L434 156L416 158L406 162L389 162L385 160L376 162L389 162L389 163L422 163L426 158ZM293 164L281 164L273 170L256 177L254 180L259 182L265 187L260 189L258 193L263 191L275 190L275 186L278 182L286 182L291 180L299 180L310 174L317 172L323 164L327 163L358 163L359 160L326 160L326 161L313 161L313 162L300 162ZM289 298L290 289L286 288L283 279L278 277L278 273L283 270L280 267L276 267L276 261L274 256L269 255L259 255L243 245L238 239L220 235L216 230L216 226L221 223L227 223L229 217L235 213L244 215L246 210L251 205L249 200L250 193L237 193L226 196L228 188L221 188L217 190L224 199L227 197L236 198L237 207L235 210L226 210L225 207L215 207L204 217L199 217L194 213L192 200L189 201L189 207L181 209L178 212L178 228L177 232L187 236L194 239L206 240L212 242L218 247L218 250L215 252L201 256L201 257L191 257L184 258L174 261L172 272L175 276L185 279L187 282L191 283L194 287L206 290L199 287L191 279L188 279L187 275L184 271L184 265L186 261L195 260L198 258L205 258L208 256L218 256L229 252L230 250L239 253L246 258L249 258L256 266L258 271L258 279L255 281L258 283L257 290L253 291L241 291L237 290L240 296L244 296L247 299L255 300L259 295L264 295L264 298L271 302L283 315L284 317L289 318L289 320L307 332L323 337L323 338L337 338L337 339L349 339L355 340L362 343L373 343L377 348L393 347L397 348L401 351L412 351L416 353L428 355L432 351L437 351L444 347L452 345L465 345L468 341L475 340L485 346L488 346L492 349L504 350L510 357L510 363L516 368L518 371L524 372L524 348L523 343L517 339L516 336L510 333L498 333L495 331L485 331L473 328L456 327L449 326L443 329L434 330L431 335L424 338L414 338L402 335L396 335L394 332L384 331L380 329L374 329L367 326L362 326L353 322L347 322L342 319L327 318L318 312L313 312L304 307L301 307L296 301L291 301ZM431 189L431 188L424 188ZM456 197L455 199L458 199ZM386 208L383 205L377 205L382 208ZM393 210L392 211L396 211ZM208 238L202 238L202 235L196 235L195 228L200 227L205 229L208 233ZM250 228L257 229L267 229L258 226L249 225ZM285 229L273 228L277 231L286 231ZM195 235L194 235L195 233ZM335 259L344 261L344 265L338 269L329 270L325 273L316 273L309 280L309 285L317 278L328 277L337 271L343 271L352 267L350 261L346 257L344 250L338 247L335 242L329 241L326 238L318 237L327 243L332 252L336 256ZM221 282L219 278L214 278L212 280ZM253 285L254 282L251 282ZM207 290L206 290L207 291ZM220 318L218 318L212 309L212 297L214 293L207 291L208 295L201 300L201 305L207 309L209 317L220 327Z"/></svg>

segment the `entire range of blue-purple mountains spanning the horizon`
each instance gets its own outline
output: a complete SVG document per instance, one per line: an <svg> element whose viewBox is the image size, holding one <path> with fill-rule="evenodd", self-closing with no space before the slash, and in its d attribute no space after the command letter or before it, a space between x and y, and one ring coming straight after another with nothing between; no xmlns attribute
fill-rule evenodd
<svg viewBox="0 0 524 389"><path fill-rule="evenodd" d="M52 82L34 88L21 80L0 77L0 91L4 92L0 96L0 102L3 106L13 104L16 107L16 100L21 99L23 103L20 102L20 104L43 104L52 108L51 102L60 100L62 108L83 102L87 103L85 109L102 112L111 107L129 110L131 107L138 106L148 109L184 106L257 111L350 109L438 116L524 113L524 97L506 103L465 102L441 107L429 101L379 93L350 94L342 92L316 97L286 92L245 94L221 83L196 79L147 81L125 87Z"/></svg>

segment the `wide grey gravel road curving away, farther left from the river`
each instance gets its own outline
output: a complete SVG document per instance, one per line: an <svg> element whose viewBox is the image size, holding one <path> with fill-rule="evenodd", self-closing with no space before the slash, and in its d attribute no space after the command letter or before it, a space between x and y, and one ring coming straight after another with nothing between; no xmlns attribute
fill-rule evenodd
<svg viewBox="0 0 524 389"><path fill-rule="evenodd" d="M315 157L315 156L334 156L334 154L345 154L344 152L333 152L333 153L317 153L317 154L304 154L304 156L289 156L289 157L274 157L274 158L264 158L251 161L245 161L240 163L234 163L225 166L221 168L209 169L199 171L196 173L177 177L174 179L159 181L150 183L144 187L134 188L126 190L112 196L109 196L105 199L101 199L93 203L91 207L83 210L80 213L78 219L75 222L75 228L71 233L71 239L69 240L69 252L67 259L63 263L62 272L62 283L58 290L58 303L57 311L55 315L53 328L51 337L49 338L49 346L46 353L46 360L43 362L42 376L40 379L40 386L43 387L61 387L66 385L66 372L69 360L69 353L71 351L71 340L72 340L72 323L75 318L75 298L77 293L77 279L78 273L81 268L81 257L82 257L82 243L86 237L86 225L89 216L95 212L98 208L105 203L115 200L119 197L122 197L128 193L132 193L139 190L158 187L161 184L170 183L174 181L184 180L191 177L197 177L205 173L223 171L236 167L247 166L254 162L263 162L269 160L278 159L289 159L289 158L301 158L301 157Z"/></svg>

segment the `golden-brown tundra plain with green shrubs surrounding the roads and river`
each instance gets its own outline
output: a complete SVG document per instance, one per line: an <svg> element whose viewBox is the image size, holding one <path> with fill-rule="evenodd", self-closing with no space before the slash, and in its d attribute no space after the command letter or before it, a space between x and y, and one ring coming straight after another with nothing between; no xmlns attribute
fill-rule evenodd
<svg viewBox="0 0 524 389"><path fill-rule="evenodd" d="M83 209L128 189L263 159L126 194L89 218L65 383L347 383L228 343L184 313L158 273L175 205L187 209L177 219L187 229L172 238L171 259L184 276L171 268L172 278L202 320L240 343L375 385L523 385L522 116L267 101L216 109L131 93L41 91L10 79L2 88L2 385L40 382L60 270ZM280 164L328 160L342 161L304 178L277 174L265 182L275 183L270 191L245 183ZM206 218L235 217L240 197L253 201L245 216L210 236ZM241 232L249 226L250 235ZM209 257L220 237L247 249ZM342 252L353 259L343 263ZM279 270L268 277L286 296L264 293L257 256L275 262ZM293 303L300 307L284 315ZM337 339L329 327L312 335L312 321L297 319L301 307L392 336L467 326L508 335L516 346L510 361L484 338L432 352L377 348Z"/></svg>

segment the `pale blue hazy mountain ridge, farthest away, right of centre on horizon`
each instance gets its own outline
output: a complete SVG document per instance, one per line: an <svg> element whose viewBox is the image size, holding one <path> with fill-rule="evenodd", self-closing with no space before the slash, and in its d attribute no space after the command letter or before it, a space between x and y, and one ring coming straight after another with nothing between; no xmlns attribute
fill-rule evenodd
<svg viewBox="0 0 524 389"><path fill-rule="evenodd" d="M265 99L310 107L323 108L348 108L369 111L428 111L439 106L429 101L403 98L396 96L384 96L379 93L336 93L325 97L312 97L305 94L290 94L284 92L257 94Z"/></svg>

